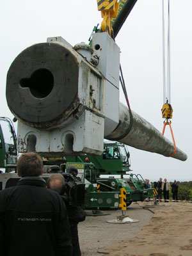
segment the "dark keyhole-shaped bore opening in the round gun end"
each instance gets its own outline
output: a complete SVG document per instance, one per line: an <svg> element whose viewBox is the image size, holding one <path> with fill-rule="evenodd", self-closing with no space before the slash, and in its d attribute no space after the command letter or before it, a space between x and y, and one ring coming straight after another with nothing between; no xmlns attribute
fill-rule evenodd
<svg viewBox="0 0 192 256"><path fill-rule="evenodd" d="M46 68L35 70L31 77L20 79L22 88L29 88L31 94L38 99L47 97L54 86L54 77Z"/></svg>

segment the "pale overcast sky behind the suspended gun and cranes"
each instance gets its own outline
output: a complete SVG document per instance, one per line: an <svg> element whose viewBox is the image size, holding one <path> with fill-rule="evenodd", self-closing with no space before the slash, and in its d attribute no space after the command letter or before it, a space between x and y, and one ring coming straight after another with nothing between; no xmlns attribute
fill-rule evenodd
<svg viewBox="0 0 192 256"><path fill-rule="evenodd" d="M116 36L131 108L159 131L163 129L161 3L161 0L138 0ZM133 172L151 181L159 177L170 181L192 180L192 1L170 0L170 4L172 128L177 147L188 154L188 160L182 162L129 147ZM6 104L6 74L21 51L46 42L49 36L62 36L72 45L88 43L93 27L101 21L96 0L3 1L0 15L0 116L13 118ZM123 93L120 100L125 103ZM165 136L172 140L168 127Z"/></svg>

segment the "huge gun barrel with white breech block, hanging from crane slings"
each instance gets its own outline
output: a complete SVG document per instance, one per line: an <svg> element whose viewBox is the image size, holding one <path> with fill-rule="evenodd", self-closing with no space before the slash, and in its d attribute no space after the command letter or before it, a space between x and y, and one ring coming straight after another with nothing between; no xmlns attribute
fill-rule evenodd
<svg viewBox="0 0 192 256"><path fill-rule="evenodd" d="M6 98L19 120L19 152L102 154L108 138L172 155L173 144L133 111L131 121L119 102L120 49L107 33L93 35L92 49L56 40L27 48L8 71ZM173 157L187 159L179 148Z"/></svg>

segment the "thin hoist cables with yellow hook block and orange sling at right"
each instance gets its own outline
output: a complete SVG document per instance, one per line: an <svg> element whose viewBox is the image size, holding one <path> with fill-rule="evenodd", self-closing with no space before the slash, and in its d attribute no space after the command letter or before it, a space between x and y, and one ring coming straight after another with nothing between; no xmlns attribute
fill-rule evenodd
<svg viewBox="0 0 192 256"><path fill-rule="evenodd" d="M167 33L167 65L165 65L165 32L164 32L164 0L162 0L162 22L163 22L163 108L161 109L162 116L165 118L163 122L163 135L164 135L164 130L166 125L170 126L170 131L172 133L172 139L173 139L173 144L175 147L175 150L173 154L170 156L172 157L175 155L175 152L177 151L177 147L175 144L175 139L173 136L173 131L172 131L172 122L170 119L172 118L173 115L173 108L171 105L171 77L170 77L170 0L168 0L168 33ZM167 72L166 68L167 66Z"/></svg>

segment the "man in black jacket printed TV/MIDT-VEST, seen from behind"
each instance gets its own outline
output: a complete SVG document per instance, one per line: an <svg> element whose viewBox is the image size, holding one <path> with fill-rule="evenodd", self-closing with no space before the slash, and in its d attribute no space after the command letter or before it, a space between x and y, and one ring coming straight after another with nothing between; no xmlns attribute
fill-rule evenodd
<svg viewBox="0 0 192 256"><path fill-rule="evenodd" d="M42 159L26 153L17 161L22 179L0 193L1 256L70 256L65 204L46 188Z"/></svg>

